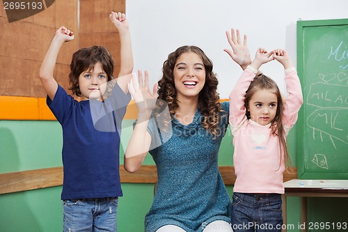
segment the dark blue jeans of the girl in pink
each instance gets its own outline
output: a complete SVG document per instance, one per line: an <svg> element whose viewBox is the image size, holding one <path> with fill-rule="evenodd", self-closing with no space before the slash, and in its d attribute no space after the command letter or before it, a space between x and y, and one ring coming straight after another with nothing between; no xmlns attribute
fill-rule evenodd
<svg viewBox="0 0 348 232"><path fill-rule="evenodd" d="M235 232L276 232L283 226L281 194L232 196L232 229Z"/></svg>

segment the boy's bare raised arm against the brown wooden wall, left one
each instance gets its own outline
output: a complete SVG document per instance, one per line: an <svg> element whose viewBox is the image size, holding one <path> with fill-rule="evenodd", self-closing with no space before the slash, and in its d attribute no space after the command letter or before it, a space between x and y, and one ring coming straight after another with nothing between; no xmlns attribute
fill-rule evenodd
<svg viewBox="0 0 348 232"><path fill-rule="evenodd" d="M52 39L51 45L49 45L49 49L47 50L44 60L42 61L40 68L40 80L42 86L45 88L45 91L51 100L54 99L54 95L56 95L58 88L58 84L54 79L53 74L59 50L61 49L61 46L64 42L73 39L74 33L66 29L65 26L61 26L56 31L56 35Z"/></svg>

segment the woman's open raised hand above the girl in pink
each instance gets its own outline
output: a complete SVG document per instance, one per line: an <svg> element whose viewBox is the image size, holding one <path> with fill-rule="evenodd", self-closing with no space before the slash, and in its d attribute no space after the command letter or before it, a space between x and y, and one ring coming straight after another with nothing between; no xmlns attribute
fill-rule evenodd
<svg viewBox="0 0 348 232"><path fill-rule="evenodd" d="M251 63L250 53L248 46L246 45L246 35L244 35L244 41L240 39L239 30L237 29L237 38L235 29L231 29L231 32L226 31L226 36L228 43L232 47L232 51L230 49L223 49L223 51L227 52L233 61L238 63L243 70Z"/></svg>

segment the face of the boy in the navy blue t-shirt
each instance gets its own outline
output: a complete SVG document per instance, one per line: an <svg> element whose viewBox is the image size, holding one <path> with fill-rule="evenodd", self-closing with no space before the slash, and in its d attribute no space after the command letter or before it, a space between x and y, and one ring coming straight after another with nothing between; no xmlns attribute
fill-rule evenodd
<svg viewBox="0 0 348 232"><path fill-rule="evenodd" d="M106 90L107 79L100 62L95 63L93 69L82 72L79 75L81 100L99 100Z"/></svg>

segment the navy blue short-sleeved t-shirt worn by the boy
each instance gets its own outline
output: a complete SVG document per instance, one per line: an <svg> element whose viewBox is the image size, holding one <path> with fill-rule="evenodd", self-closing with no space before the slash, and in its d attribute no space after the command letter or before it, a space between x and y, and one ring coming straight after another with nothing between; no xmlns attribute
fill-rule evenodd
<svg viewBox="0 0 348 232"><path fill-rule="evenodd" d="M104 102L78 102L58 86L47 105L63 128L61 199L122 196L120 125L130 95L116 84Z"/></svg>

